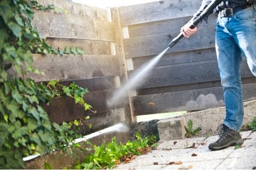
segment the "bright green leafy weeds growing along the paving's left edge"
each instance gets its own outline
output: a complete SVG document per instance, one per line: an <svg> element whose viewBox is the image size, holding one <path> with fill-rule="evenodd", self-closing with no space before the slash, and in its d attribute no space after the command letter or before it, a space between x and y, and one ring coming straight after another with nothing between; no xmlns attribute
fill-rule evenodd
<svg viewBox="0 0 256 170"><path fill-rule="evenodd" d="M111 169L122 161L130 161L136 155L145 154L153 147L156 147L156 136L147 136L142 138L140 133L136 133L137 140L129 141L124 145L116 143L116 137L108 144L102 143L100 146L93 146L91 153L84 160L78 163L72 169ZM87 142L90 144L90 142ZM91 145L91 144L90 144ZM92 145L91 145L92 147ZM90 150L90 148L86 148Z"/></svg>

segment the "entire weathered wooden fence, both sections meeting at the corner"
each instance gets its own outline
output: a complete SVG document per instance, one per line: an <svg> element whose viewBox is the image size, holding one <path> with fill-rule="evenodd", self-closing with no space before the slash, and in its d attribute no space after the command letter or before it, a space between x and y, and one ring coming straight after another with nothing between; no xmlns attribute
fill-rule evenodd
<svg viewBox="0 0 256 170"><path fill-rule="evenodd" d="M76 46L84 55L34 54L34 67L44 75L30 75L36 82L71 81L90 91L84 98L96 114L84 111L68 97L45 105L52 122L67 122L90 115L93 128L134 122L136 116L192 111L224 105L215 56L216 16L202 23L198 33L183 38L160 59L151 76L129 93L122 108L110 109L108 95L129 80L140 66L168 47L199 8L201 0L165 0L135 6L100 9L65 0L38 0L65 13L35 11L33 24L54 48ZM244 100L256 99L256 80L242 63ZM153 104L152 104L153 103Z"/></svg>

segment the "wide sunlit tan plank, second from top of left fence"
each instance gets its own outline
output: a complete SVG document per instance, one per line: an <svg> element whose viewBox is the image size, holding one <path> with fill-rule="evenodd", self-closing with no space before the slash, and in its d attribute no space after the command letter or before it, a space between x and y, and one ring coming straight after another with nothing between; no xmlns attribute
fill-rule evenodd
<svg viewBox="0 0 256 170"><path fill-rule="evenodd" d="M113 23L93 17L35 11L32 23L45 37L116 41Z"/></svg>

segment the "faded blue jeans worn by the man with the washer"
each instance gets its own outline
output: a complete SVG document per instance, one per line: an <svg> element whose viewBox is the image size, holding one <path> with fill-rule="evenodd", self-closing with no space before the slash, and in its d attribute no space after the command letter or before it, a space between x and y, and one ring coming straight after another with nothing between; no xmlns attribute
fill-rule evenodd
<svg viewBox="0 0 256 170"><path fill-rule="evenodd" d="M223 86L226 117L224 125L239 131L244 119L241 84L242 54L256 76L256 6L236 12L231 17L218 17L216 53Z"/></svg>

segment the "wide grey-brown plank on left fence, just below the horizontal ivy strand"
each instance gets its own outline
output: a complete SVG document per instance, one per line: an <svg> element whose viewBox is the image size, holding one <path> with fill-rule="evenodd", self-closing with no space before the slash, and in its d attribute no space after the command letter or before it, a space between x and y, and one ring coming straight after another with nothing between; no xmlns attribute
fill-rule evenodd
<svg viewBox="0 0 256 170"><path fill-rule="evenodd" d="M119 61L113 55L33 55L33 66L41 74L29 74L35 82L78 80L119 75Z"/></svg>

